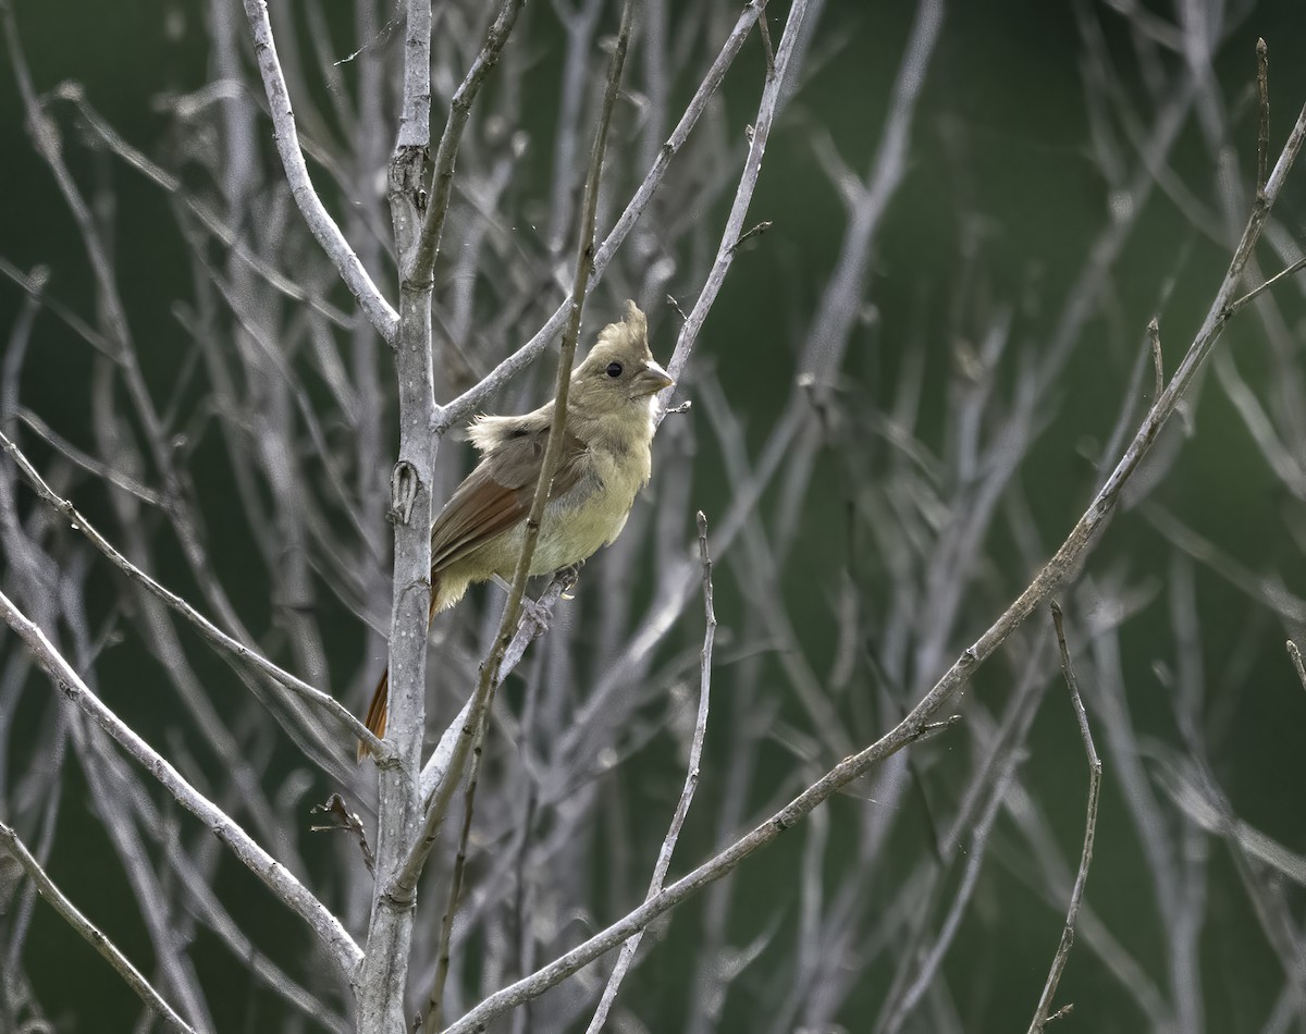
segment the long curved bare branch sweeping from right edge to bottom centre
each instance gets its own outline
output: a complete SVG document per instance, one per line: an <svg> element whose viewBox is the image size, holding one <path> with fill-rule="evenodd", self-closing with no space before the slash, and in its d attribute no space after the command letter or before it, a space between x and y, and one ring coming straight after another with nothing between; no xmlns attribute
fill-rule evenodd
<svg viewBox="0 0 1306 1034"><path fill-rule="evenodd" d="M781 44L784 50L784 44ZM965 649L934 687L921 698L921 701L908 713L897 726L889 730L875 743L866 747L857 755L844 759L840 764L825 773L820 779L808 786L802 794L781 808L776 815L761 825L755 826L747 834L725 847L713 858L704 862L688 875L679 879L653 901L645 902L624 918L599 931L589 940L577 945L572 950L555 958L549 965L535 973L524 977L516 983L495 992L471 1009L466 1016L449 1026L445 1034L469 1034L469 1031L485 1030L488 1022L515 1005L528 1001L550 987L567 979L582 966L594 961L599 956L624 943L637 930L643 930L653 919L674 909L680 902L692 897L710 883L731 872L744 858L754 854L765 845L773 842L781 833L808 815L815 807L831 798L853 779L857 779L874 765L885 757L902 749L917 736L921 728L930 722L935 714L949 702L957 691L969 682L976 668L982 665L998 646L1028 618L1037 607L1046 602L1051 594L1066 582L1088 555L1091 547L1110 522L1115 510L1119 494L1130 477L1151 452L1152 444L1160 435L1161 427L1174 413L1179 398L1183 396L1196 371L1205 362L1215 347L1220 333L1228 321L1228 306L1233 298L1238 283L1242 279L1247 261L1252 249L1260 239L1262 228L1269 209L1273 206L1288 172L1306 142L1306 107L1302 108L1297 124L1293 128L1284 150L1275 163L1266 183L1263 198L1258 198L1252 206L1247 226L1242 239L1234 251L1216 298L1211 306L1207 319L1188 347L1187 354L1175 369L1165 392L1153 403L1147 414L1124 456L1115 470L1106 479L1106 483L1093 497L1084 514L1076 521L1070 535L1047 561L1043 569L1034 577L1029 586L1017 597L1010 607L994 621L976 642Z"/></svg>

